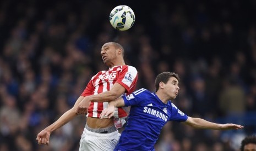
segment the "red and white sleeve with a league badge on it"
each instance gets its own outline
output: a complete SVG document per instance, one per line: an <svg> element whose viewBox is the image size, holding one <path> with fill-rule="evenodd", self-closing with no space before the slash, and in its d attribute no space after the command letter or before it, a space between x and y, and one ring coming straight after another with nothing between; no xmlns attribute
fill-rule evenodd
<svg viewBox="0 0 256 151"><path fill-rule="evenodd" d="M127 94L130 94L135 90L138 80L137 74L138 71L135 67L123 66L116 82L121 84L126 89Z"/></svg>

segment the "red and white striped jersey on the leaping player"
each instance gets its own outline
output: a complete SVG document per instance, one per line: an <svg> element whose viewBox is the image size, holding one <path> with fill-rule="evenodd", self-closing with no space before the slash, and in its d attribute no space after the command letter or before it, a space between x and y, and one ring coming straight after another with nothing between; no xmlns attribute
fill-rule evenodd
<svg viewBox="0 0 256 151"><path fill-rule="evenodd" d="M108 91L115 83L121 84L126 89L123 95L129 95L135 90L138 79L137 74L135 67L127 65L115 66L108 69L108 71L100 71L91 78L81 96L96 95ZM86 116L100 118L101 112L107 107L108 102L91 102ZM118 108L114 117L123 118L127 117L127 115L123 108Z"/></svg>

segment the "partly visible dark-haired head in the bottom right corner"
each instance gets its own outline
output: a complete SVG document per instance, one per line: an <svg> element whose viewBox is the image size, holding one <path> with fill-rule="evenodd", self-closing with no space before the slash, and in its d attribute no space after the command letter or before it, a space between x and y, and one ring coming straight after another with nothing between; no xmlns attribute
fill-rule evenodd
<svg viewBox="0 0 256 151"><path fill-rule="evenodd" d="M247 136L241 142L241 151L254 151L256 150L256 136Z"/></svg>

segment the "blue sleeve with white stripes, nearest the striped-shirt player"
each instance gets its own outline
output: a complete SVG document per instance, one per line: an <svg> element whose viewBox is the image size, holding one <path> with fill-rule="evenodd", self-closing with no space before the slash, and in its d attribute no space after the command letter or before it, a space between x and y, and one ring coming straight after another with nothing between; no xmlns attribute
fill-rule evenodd
<svg viewBox="0 0 256 151"><path fill-rule="evenodd" d="M130 95L123 96L124 106L139 106L145 98L144 91L146 91L146 89L139 89Z"/></svg>

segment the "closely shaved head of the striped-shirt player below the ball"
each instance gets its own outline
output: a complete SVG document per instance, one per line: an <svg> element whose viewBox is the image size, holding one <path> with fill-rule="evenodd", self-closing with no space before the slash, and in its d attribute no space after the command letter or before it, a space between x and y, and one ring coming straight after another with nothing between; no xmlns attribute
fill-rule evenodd
<svg viewBox="0 0 256 151"><path fill-rule="evenodd" d="M105 43L101 48L101 57L107 66L115 65L118 60L123 60L124 49L115 42Z"/></svg>

